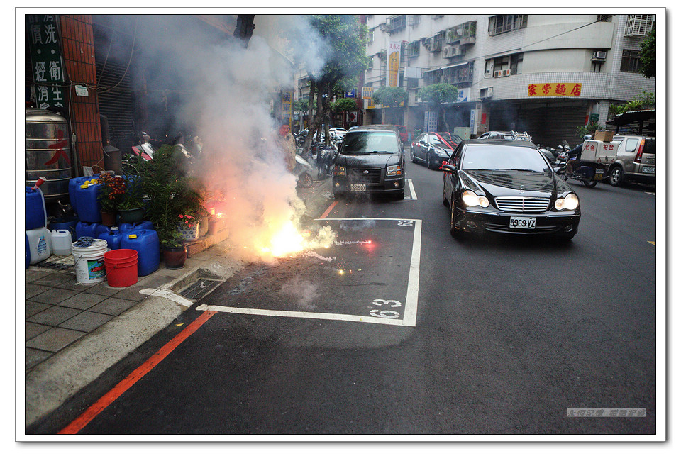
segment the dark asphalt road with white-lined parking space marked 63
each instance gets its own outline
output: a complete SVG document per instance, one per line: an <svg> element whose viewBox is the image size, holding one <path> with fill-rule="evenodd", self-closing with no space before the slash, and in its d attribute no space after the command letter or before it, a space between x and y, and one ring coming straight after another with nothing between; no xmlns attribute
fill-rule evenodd
<svg viewBox="0 0 681 456"><path fill-rule="evenodd" d="M33 432L66 426L203 315L79 433L655 433L654 187L570 182L570 243L453 240L441 172L406 171L404 201L340 201L315 222L332 248L245 268Z"/></svg>

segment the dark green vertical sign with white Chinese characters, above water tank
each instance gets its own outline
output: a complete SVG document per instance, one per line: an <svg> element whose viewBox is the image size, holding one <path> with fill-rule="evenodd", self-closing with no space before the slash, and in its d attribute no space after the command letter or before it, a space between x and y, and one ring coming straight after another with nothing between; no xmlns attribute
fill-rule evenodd
<svg viewBox="0 0 681 456"><path fill-rule="evenodd" d="M62 108L65 102L65 87L62 84L64 63L57 30L57 16L27 14L26 32L38 108Z"/></svg>

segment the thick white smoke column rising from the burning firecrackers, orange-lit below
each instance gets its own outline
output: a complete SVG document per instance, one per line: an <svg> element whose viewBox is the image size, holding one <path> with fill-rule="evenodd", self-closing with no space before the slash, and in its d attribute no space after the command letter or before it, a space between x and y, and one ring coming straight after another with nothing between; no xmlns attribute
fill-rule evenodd
<svg viewBox="0 0 681 456"><path fill-rule="evenodd" d="M294 68L258 35L245 47L236 38L216 40L206 24L188 16L144 18L138 36L143 52L150 59L157 59L153 52L170 59L162 67L167 74L156 72L152 84L162 86L163 77L182 82L186 93L172 109L181 123L196 126L203 141L201 163L192 172L224 196L220 209L230 238L258 257L257 246L267 243L283 223L297 224L305 210L296 178L273 144L278 125L270 115L272 94L294 89ZM310 65L323 66L321 50L328 46L304 17L268 16L263 23L299 38L286 43L291 55L302 52Z"/></svg>

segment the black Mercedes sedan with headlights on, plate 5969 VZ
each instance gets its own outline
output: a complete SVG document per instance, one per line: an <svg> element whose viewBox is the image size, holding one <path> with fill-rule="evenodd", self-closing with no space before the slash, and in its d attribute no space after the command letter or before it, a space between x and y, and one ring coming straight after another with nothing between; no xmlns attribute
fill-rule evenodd
<svg viewBox="0 0 681 456"><path fill-rule="evenodd" d="M572 239L580 199L536 145L524 140L464 140L443 165L450 233L553 235Z"/></svg>

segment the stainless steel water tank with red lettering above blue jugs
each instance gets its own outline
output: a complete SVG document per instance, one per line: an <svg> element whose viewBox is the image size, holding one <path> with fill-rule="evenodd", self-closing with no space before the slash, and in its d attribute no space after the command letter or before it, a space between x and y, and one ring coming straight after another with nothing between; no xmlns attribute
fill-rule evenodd
<svg viewBox="0 0 681 456"><path fill-rule="evenodd" d="M44 109L26 109L26 186L45 177L40 189L46 199L68 196L72 158L67 120Z"/></svg>

